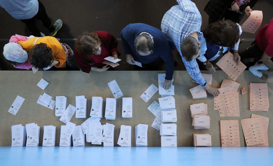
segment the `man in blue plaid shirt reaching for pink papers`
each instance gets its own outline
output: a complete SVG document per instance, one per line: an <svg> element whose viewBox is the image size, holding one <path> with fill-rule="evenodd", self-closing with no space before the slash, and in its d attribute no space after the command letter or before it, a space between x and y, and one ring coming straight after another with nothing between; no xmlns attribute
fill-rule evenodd
<svg viewBox="0 0 273 166"><path fill-rule="evenodd" d="M219 95L216 87L207 84L200 73L196 58L204 51L199 42L203 37L200 31L202 18L196 5L190 0L176 0L179 5L168 10L161 22L161 30L170 43L179 51L188 73L197 83L203 86L213 96Z"/></svg>

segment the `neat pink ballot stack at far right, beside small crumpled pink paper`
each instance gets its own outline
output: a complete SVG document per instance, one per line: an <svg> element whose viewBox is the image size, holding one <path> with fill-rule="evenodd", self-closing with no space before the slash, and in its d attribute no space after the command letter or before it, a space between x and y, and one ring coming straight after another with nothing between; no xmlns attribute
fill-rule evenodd
<svg viewBox="0 0 273 166"><path fill-rule="evenodd" d="M250 83L250 111L268 111L268 87L266 83Z"/></svg>

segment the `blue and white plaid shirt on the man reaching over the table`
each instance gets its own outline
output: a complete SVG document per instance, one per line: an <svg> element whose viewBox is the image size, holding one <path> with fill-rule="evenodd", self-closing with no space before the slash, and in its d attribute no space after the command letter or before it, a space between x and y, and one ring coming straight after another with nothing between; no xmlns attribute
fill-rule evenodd
<svg viewBox="0 0 273 166"><path fill-rule="evenodd" d="M161 30L167 36L170 42L173 42L179 51L182 61L188 73L201 86L206 85L206 81L202 76L196 60L186 61L180 50L182 40L194 32L200 34L202 18L196 5L190 0L176 0L179 5L173 6L168 10L161 22Z"/></svg>

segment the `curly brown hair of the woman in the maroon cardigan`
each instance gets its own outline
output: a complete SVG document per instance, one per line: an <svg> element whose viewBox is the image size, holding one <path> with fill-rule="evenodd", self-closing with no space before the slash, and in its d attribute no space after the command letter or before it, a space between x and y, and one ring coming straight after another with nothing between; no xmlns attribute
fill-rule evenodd
<svg viewBox="0 0 273 166"><path fill-rule="evenodd" d="M96 51L95 46L100 42L99 35L96 32L84 32L76 39L75 48L79 55L90 56Z"/></svg>

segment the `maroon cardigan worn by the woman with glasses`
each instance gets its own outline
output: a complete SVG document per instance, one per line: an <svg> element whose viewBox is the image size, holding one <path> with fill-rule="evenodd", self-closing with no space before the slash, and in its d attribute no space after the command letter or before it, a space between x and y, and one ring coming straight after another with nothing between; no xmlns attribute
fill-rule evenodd
<svg viewBox="0 0 273 166"><path fill-rule="evenodd" d="M105 31L96 31L96 33L99 35L99 38L102 41L102 51L100 55L90 55L85 57L77 52L77 48L74 50L76 62L79 68L85 73L89 73L91 67L101 68L106 65L102 63L106 61L103 58L112 56L112 52L117 52L118 55L120 55L117 50L118 41L111 33Z"/></svg>

